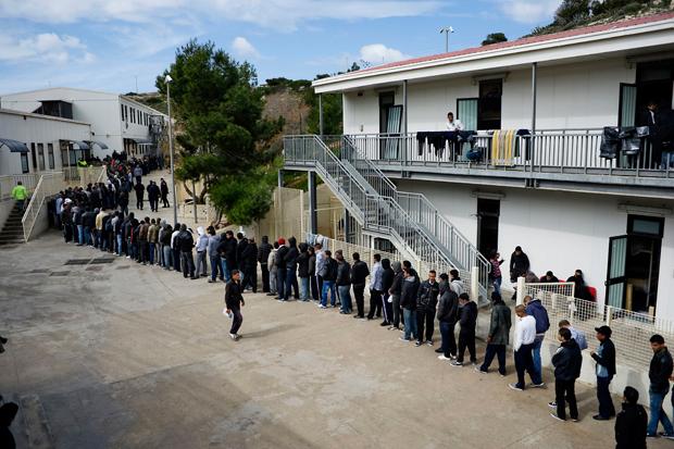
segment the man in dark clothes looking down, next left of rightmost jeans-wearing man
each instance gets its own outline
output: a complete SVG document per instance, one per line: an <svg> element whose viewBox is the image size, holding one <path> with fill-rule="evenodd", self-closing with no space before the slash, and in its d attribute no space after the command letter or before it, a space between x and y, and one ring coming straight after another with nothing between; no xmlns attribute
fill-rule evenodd
<svg viewBox="0 0 674 449"><path fill-rule="evenodd" d="M611 327L595 327L597 339L600 345L597 352L592 351L590 356L597 362L597 400L599 401L599 413L592 419L597 421L607 421L615 416L615 408L609 391L609 385L615 375L615 346L611 341Z"/></svg>

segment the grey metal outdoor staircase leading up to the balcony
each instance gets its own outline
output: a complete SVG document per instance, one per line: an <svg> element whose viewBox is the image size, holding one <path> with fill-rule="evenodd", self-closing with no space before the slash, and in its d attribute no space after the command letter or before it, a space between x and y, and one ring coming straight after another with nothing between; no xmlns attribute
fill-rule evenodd
<svg viewBox="0 0 674 449"><path fill-rule="evenodd" d="M364 232L391 240L400 252L428 269L455 267L467 279L471 269L477 266L480 296L486 299L489 265L477 249L423 195L398 191L378 169L358 154L347 137L287 136L284 153L286 165L315 170ZM430 210L433 226L428 221Z"/></svg>

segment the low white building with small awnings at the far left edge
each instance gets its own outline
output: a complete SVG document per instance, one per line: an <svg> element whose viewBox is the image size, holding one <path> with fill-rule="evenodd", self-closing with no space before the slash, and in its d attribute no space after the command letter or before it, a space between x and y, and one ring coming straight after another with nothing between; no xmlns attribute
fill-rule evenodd
<svg viewBox="0 0 674 449"><path fill-rule="evenodd" d="M0 109L0 176L60 171L90 139L88 123Z"/></svg>

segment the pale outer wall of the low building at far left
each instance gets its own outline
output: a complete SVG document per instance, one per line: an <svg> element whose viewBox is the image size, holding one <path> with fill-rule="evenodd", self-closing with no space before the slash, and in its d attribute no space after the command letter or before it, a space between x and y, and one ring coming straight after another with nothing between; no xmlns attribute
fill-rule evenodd
<svg viewBox="0 0 674 449"><path fill-rule="evenodd" d="M43 145L45 170L50 171L48 144L53 145L54 171L62 169L60 140L89 140L89 125L74 123L66 120L48 119L35 114L15 114L0 111L0 137L30 144ZM39 159L39 154L38 154ZM42 172L38 161L37 169L33 166L33 155L28 153L29 173ZM10 152L5 146L0 147L0 175L22 174L21 153Z"/></svg>

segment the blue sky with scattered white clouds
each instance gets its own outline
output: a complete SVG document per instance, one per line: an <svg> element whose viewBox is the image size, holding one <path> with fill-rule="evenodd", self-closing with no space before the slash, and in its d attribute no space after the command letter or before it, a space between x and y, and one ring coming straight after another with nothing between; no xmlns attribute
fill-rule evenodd
<svg viewBox="0 0 674 449"><path fill-rule="evenodd" d="M0 95L46 87L154 91L191 38L213 41L267 78L313 79L513 40L561 0L0 0Z"/></svg>

